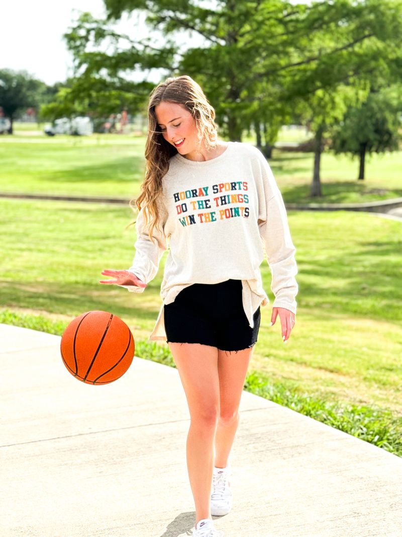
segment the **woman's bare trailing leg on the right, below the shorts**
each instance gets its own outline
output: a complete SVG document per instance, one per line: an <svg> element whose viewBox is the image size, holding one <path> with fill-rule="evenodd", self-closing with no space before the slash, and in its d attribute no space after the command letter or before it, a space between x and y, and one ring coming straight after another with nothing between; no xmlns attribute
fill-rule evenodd
<svg viewBox="0 0 402 537"><path fill-rule="evenodd" d="M214 462L217 468L226 468L239 426L239 405L253 349L250 347L237 352L218 350L220 413Z"/></svg>

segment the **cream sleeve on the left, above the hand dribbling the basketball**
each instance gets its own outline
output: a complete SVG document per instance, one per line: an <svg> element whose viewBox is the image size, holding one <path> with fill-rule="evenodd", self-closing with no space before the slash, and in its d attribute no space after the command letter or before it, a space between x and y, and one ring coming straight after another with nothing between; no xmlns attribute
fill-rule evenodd
<svg viewBox="0 0 402 537"><path fill-rule="evenodd" d="M143 206L137 216L137 240L134 245L136 253L128 271L135 274L137 278L147 284L157 275L160 260L168 246L166 236L163 234L163 231L158 229L158 226L155 226L153 229L153 241L150 240L150 237L148 236L148 224L145 224L144 212L146 210L146 207ZM159 214L160 225L163 229L166 214L162 207ZM125 287L129 291L135 293L142 293L145 289L144 287L138 287L136 285L121 285L120 287Z"/></svg>

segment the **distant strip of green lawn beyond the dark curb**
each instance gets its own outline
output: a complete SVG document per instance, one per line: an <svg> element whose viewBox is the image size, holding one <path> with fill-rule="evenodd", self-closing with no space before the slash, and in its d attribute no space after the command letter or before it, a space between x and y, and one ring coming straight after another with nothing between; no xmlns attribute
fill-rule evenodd
<svg viewBox="0 0 402 537"><path fill-rule="evenodd" d="M136 197L144 178L144 147L144 136L28 136L17 126L15 135L0 137L0 192ZM321 198L310 198L312 153L274 150L270 165L286 202L402 196L402 152L368 158L364 181L356 179L358 161L323 154Z"/></svg>

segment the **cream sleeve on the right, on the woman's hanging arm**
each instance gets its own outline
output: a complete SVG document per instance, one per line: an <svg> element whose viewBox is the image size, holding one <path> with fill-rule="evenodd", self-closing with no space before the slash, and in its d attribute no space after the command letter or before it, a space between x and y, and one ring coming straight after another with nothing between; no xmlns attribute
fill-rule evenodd
<svg viewBox="0 0 402 537"><path fill-rule="evenodd" d="M271 290L275 296L272 307L286 308L296 313L295 296L299 290L295 279L296 248L292 242L284 200L270 165L261 151L257 151L258 227L272 274Z"/></svg>

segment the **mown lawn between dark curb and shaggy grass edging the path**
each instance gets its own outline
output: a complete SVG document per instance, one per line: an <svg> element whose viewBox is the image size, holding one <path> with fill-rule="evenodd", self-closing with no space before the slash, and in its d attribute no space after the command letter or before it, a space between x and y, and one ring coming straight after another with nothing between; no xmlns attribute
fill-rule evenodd
<svg viewBox="0 0 402 537"><path fill-rule="evenodd" d="M121 316L136 338L150 335L167 254L141 295L98 283L103 269L131 265L129 207L14 199L0 206L3 315L31 313L65 326L84 311L103 309ZM262 308L251 367L312 395L375 403L402 415L400 222L289 211L289 226L299 265L296 326L287 345L279 320L269 327L273 295L264 262L271 304Z"/></svg>

